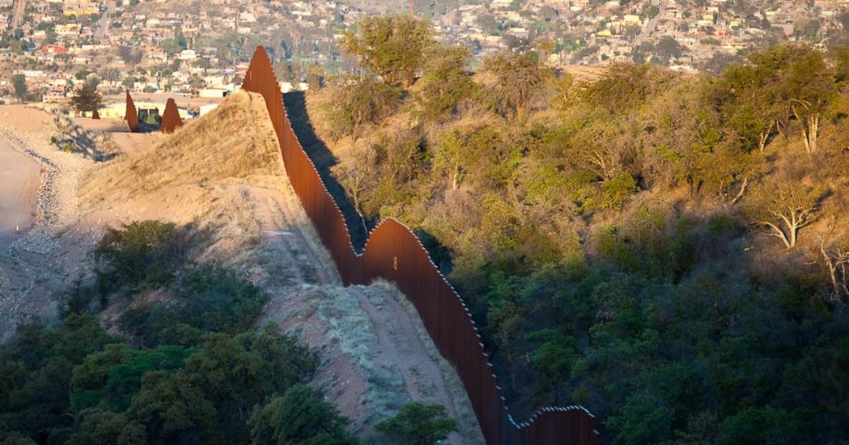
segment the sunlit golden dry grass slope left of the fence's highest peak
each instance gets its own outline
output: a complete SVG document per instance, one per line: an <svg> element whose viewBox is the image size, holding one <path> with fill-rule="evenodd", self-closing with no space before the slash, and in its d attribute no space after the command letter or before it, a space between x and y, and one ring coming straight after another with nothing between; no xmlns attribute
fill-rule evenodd
<svg viewBox="0 0 849 445"><path fill-rule="evenodd" d="M166 187L281 175L281 167L265 103L237 92L212 113L163 136L147 153L93 171L81 181L80 196L83 205L93 206Z"/></svg>

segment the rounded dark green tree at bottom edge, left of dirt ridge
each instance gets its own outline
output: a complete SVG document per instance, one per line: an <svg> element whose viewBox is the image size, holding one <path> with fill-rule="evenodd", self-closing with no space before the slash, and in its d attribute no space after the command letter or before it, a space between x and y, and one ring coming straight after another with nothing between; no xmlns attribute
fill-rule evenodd
<svg viewBox="0 0 849 445"><path fill-rule="evenodd" d="M323 394L305 385L290 387L250 416L250 436L255 445L295 443L343 445L357 440L345 432L347 420Z"/></svg>

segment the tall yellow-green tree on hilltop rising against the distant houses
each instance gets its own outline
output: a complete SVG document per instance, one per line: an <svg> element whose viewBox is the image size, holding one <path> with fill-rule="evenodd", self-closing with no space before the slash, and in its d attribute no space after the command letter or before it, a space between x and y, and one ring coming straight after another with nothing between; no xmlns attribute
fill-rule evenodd
<svg viewBox="0 0 849 445"><path fill-rule="evenodd" d="M390 85L413 83L424 53L434 45L430 21L412 15L371 16L357 22L357 31L346 31L342 47L359 63Z"/></svg>

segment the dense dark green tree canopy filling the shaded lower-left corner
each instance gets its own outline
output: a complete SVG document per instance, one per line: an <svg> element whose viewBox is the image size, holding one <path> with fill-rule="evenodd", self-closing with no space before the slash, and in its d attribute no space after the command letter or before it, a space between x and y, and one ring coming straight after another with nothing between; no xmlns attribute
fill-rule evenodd
<svg viewBox="0 0 849 445"><path fill-rule="evenodd" d="M0 348L0 442L356 442L335 407L304 386L317 356L275 326L254 329L264 292L218 266L179 280L173 270L140 267L161 270L157 252L176 248L175 232L158 221L110 231L101 280L121 286L77 290L58 329L22 325ZM130 264L138 274L128 273ZM140 297L145 286L166 286L172 298L135 301L116 326L130 338L86 314L98 292Z"/></svg>

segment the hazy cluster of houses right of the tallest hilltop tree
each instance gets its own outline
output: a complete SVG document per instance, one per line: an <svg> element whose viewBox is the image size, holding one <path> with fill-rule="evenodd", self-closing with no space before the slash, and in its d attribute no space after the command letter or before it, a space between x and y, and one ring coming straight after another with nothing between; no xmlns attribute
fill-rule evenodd
<svg viewBox="0 0 849 445"><path fill-rule="evenodd" d="M554 66L650 60L699 70L764 39L824 45L841 34L847 8L846 0L492 0L461 6L441 26L477 54L524 45Z"/></svg>

